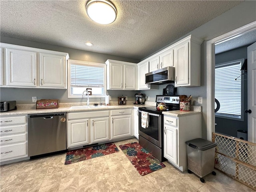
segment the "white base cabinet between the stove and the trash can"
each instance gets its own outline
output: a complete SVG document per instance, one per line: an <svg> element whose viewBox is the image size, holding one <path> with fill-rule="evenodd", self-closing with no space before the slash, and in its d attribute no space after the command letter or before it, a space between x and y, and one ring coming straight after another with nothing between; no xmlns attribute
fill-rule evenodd
<svg viewBox="0 0 256 192"><path fill-rule="evenodd" d="M164 114L164 157L181 171L188 169L186 141L202 137L202 114Z"/></svg>

